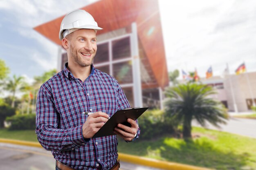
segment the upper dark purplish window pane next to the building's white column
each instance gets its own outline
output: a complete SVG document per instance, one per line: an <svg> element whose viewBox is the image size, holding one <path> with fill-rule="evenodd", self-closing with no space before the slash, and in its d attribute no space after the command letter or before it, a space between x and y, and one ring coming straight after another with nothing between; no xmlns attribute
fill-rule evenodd
<svg viewBox="0 0 256 170"><path fill-rule="evenodd" d="M112 41L113 60L131 57L130 37Z"/></svg>

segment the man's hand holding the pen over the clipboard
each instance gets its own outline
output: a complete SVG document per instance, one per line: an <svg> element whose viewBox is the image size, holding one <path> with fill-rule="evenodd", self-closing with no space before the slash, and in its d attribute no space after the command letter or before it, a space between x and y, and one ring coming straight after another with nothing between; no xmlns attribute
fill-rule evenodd
<svg viewBox="0 0 256 170"><path fill-rule="evenodd" d="M88 116L83 124L83 137L85 139L93 137L98 130L108 121L108 114L103 112L95 112Z"/></svg>

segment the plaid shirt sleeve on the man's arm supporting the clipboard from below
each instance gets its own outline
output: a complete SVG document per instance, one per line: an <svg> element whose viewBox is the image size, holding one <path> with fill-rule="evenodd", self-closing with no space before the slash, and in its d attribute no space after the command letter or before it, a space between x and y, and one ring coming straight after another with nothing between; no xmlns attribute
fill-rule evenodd
<svg viewBox="0 0 256 170"><path fill-rule="evenodd" d="M117 110L123 110L123 109L126 109L126 108L130 108L130 104L129 104L129 102L128 102L125 94L124 94L124 91L122 90L121 86L117 82ZM138 120L136 120L136 123L138 125L137 135L132 141L137 140L139 138L139 135L140 135ZM126 141L126 142L131 142L131 141Z"/></svg>

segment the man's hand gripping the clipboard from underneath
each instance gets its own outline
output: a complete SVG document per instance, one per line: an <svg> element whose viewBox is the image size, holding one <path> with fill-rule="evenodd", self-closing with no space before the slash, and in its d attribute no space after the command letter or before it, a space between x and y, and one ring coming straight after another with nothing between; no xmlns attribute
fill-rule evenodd
<svg viewBox="0 0 256 170"><path fill-rule="evenodd" d="M122 137L126 141L131 141L138 130L138 125L136 121L132 119L127 119L128 123L131 124L131 127L125 126L123 124L118 124L114 130L114 133Z"/></svg>

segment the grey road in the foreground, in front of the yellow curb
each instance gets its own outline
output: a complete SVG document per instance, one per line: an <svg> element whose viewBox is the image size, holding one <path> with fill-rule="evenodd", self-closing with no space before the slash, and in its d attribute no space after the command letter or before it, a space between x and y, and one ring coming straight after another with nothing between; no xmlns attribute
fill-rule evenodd
<svg viewBox="0 0 256 170"><path fill-rule="evenodd" d="M159 170L122 161L120 164L120 170ZM0 170L55 170L55 160L43 148L0 143Z"/></svg>

